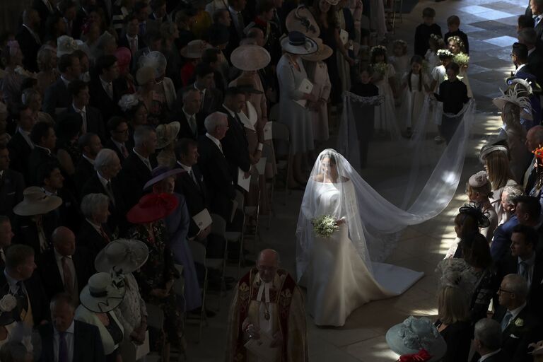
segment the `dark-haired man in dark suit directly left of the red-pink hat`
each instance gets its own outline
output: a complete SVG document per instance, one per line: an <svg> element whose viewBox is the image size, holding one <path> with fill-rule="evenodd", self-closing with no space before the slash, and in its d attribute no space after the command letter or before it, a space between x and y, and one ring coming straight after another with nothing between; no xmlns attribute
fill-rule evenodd
<svg viewBox="0 0 543 362"><path fill-rule="evenodd" d="M119 65L115 55L103 55L96 59L95 76L88 89L91 93L91 105L98 108L104 119L114 115L122 115L119 99L126 91L125 85L119 83Z"/></svg>

